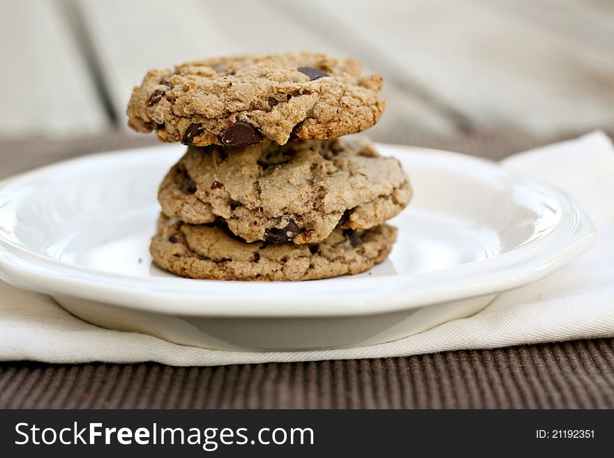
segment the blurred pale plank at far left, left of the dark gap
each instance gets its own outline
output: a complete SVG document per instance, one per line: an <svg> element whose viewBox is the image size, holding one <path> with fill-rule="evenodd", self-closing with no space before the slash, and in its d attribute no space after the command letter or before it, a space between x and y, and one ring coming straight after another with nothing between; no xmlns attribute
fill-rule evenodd
<svg viewBox="0 0 614 458"><path fill-rule="evenodd" d="M21 0L0 15L0 135L88 135L109 123L57 4Z"/></svg>

